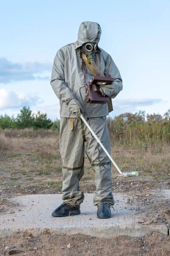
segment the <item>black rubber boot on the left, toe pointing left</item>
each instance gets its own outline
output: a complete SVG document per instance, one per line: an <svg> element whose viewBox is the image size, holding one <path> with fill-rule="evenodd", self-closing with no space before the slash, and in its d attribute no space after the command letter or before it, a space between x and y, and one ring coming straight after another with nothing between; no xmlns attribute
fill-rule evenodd
<svg viewBox="0 0 170 256"><path fill-rule="evenodd" d="M57 207L53 212L53 217L65 217L65 216L71 216L71 215L77 215L80 214L80 206L75 205L74 207L71 205L68 205L66 203L60 204L59 207Z"/></svg>

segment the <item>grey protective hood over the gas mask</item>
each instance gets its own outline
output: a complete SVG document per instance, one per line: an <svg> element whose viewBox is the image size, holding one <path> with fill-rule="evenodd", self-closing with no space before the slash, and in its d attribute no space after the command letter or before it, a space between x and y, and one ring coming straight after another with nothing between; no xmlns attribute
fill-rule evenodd
<svg viewBox="0 0 170 256"><path fill-rule="evenodd" d="M98 23L91 21L82 22L79 26L76 50L87 42L98 44L100 41L101 33L102 30ZM99 47L97 49L99 52L101 52Z"/></svg>

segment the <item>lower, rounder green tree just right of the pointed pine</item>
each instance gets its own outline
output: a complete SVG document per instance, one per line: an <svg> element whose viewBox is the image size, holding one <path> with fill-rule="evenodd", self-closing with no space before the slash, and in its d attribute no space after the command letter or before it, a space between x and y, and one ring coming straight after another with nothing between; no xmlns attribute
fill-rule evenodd
<svg viewBox="0 0 170 256"><path fill-rule="evenodd" d="M47 118L46 113L41 113L40 111L38 111L37 114L34 115L34 128L49 129L52 125L53 122L51 121L51 119Z"/></svg>

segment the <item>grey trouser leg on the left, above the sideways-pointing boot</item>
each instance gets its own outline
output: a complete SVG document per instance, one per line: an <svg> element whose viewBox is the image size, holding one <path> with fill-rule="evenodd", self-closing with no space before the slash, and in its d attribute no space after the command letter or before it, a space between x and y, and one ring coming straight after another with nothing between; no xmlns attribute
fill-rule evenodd
<svg viewBox="0 0 170 256"><path fill-rule="evenodd" d="M84 200L84 193L79 189L79 180L84 175L84 139L81 121L61 117L59 147L62 157L62 200L67 204L79 205Z"/></svg>

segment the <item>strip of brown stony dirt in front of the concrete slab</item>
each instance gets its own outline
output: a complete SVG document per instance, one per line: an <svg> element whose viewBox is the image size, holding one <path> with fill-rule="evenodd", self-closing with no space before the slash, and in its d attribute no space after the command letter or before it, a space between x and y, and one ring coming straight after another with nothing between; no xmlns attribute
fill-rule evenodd
<svg viewBox="0 0 170 256"><path fill-rule="evenodd" d="M15 233L0 240L0 255L20 256L169 256L170 236L159 232L142 238L115 236L99 239L94 236L54 236L50 233L34 237Z"/></svg>

